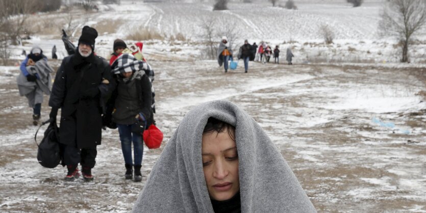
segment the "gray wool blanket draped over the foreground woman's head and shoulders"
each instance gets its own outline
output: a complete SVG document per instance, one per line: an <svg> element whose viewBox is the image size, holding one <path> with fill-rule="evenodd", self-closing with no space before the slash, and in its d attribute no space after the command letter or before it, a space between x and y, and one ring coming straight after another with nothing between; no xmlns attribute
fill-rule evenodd
<svg viewBox="0 0 426 213"><path fill-rule="evenodd" d="M198 105L164 147L133 212L213 212L202 164L209 117L236 127L241 212L316 212L290 167L259 124L235 104Z"/></svg>

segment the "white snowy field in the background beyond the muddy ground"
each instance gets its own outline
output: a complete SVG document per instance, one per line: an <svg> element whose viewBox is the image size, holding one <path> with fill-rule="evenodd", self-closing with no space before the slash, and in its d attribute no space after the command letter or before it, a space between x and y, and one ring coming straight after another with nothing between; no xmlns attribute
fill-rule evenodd
<svg viewBox="0 0 426 213"><path fill-rule="evenodd" d="M402 48L395 38L381 37L378 33L380 11L384 1L366 0L361 7L353 8L343 0L296 1L297 10L271 7L270 3L230 3L227 11L212 11L211 3L138 3L121 1L97 13L73 10L53 14L37 14L30 18L40 20L30 29L38 32L25 46L15 46L12 58L27 51L31 43L42 45L50 56L54 44L59 48L59 58L66 54L60 38L60 30L66 29L72 17L74 42L83 25L98 29L96 40L98 55L109 57L114 39L126 39L130 35L149 30L164 39L150 42L146 54L164 55L167 59L197 59L206 48L205 23L213 21L215 40L232 34L234 48L244 39L250 43L265 41L273 48L280 45L285 52L292 48L296 63L389 63L399 62ZM279 3L282 4L282 3ZM335 34L333 44L323 42L321 26L328 25ZM182 34L186 41L172 41L170 37ZM411 45L409 55L412 63L425 63L426 30L420 31ZM47 39L47 40L46 40ZM155 58L154 58L155 59Z"/></svg>

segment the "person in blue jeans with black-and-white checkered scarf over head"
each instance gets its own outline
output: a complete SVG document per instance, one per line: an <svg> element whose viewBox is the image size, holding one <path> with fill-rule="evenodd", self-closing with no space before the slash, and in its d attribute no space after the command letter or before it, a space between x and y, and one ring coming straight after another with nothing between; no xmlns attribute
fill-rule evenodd
<svg viewBox="0 0 426 213"><path fill-rule="evenodd" d="M111 65L115 74L112 96L107 103L104 122L115 123L120 134L126 179L141 181L143 131L152 124L151 81L145 74L149 65L132 54L122 54ZM109 126L109 125L108 125ZM135 159L132 159L132 143ZM134 169L134 170L133 170ZM134 171L134 177L133 177Z"/></svg>

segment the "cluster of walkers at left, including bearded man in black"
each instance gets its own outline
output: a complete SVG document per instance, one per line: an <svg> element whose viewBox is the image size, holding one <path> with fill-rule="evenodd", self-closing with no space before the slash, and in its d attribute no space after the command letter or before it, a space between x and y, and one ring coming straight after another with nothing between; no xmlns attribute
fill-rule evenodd
<svg viewBox="0 0 426 213"><path fill-rule="evenodd" d="M63 148L65 180L81 174L93 180L92 169L101 145L102 128L117 128L124 157L126 179L141 181L142 134L154 123L154 71L143 58L142 43L128 49L122 40L114 41L113 57L108 63L94 52L97 31L84 26L78 46L65 57L52 84L52 68L40 47L32 48L21 63L17 78L20 95L33 108L33 123L41 116L43 93L50 95L49 121L56 123L61 109L59 138ZM132 159L132 143L134 161Z"/></svg>

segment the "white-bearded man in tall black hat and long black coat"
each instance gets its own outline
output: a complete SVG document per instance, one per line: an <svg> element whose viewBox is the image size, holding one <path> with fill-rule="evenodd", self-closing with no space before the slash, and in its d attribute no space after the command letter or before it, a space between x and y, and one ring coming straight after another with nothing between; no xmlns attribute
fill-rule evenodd
<svg viewBox="0 0 426 213"><path fill-rule="evenodd" d="M67 181L80 176L79 163L83 178L93 180L96 146L101 144L104 98L110 93L111 68L105 59L94 55L96 37L95 29L84 26L78 50L62 61L49 99L51 122L56 122L61 108L59 137L64 145Z"/></svg>

